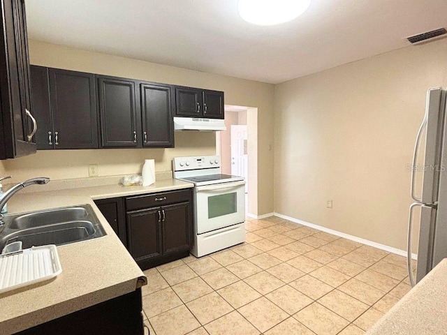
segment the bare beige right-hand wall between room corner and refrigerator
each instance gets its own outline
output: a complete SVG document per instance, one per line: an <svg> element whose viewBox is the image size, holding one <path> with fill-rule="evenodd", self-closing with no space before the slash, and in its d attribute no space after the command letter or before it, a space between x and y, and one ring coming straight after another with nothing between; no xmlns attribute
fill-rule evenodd
<svg viewBox="0 0 447 335"><path fill-rule="evenodd" d="M405 249L407 165L446 55L444 39L277 85L275 211Z"/></svg>

